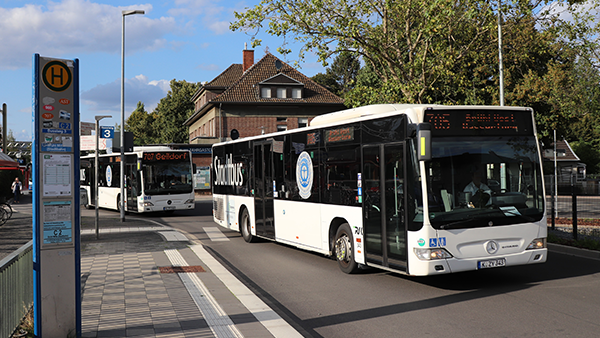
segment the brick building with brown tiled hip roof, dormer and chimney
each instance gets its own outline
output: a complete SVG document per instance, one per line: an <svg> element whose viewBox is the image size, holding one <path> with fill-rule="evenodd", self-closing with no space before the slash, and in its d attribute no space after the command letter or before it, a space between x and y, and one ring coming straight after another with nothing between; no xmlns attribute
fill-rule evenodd
<svg viewBox="0 0 600 338"><path fill-rule="evenodd" d="M254 63L254 51L243 51L233 64L194 94L194 114L184 124L190 146L230 140L232 131L249 137L307 126L313 117L346 109L340 97L267 53ZM235 133L235 132L234 132ZM210 154L195 154L199 167Z"/></svg>

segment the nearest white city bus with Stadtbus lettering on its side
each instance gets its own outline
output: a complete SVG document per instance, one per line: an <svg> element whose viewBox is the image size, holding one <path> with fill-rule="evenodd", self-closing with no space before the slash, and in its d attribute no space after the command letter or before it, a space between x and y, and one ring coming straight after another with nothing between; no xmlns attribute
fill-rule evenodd
<svg viewBox="0 0 600 338"><path fill-rule="evenodd" d="M213 213L266 238L409 275L546 261L533 111L374 105L213 146ZM475 188L473 188L475 187Z"/></svg>

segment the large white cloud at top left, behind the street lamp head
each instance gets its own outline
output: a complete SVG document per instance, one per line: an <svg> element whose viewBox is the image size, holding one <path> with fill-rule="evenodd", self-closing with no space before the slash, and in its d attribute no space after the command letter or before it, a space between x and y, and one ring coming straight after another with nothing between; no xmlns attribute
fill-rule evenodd
<svg viewBox="0 0 600 338"><path fill-rule="evenodd" d="M135 5L149 14L151 4ZM47 5L0 8L0 69L31 66L34 53L40 55L80 55L104 52L117 54L121 44L121 11L115 7L85 0L63 0ZM163 48L166 34L177 32L172 17L151 19L133 15L126 19L127 52Z"/></svg>

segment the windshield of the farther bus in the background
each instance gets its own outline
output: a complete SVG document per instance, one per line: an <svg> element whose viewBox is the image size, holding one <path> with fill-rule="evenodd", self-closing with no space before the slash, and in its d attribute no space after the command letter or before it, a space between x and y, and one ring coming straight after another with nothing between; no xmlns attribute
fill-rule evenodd
<svg viewBox="0 0 600 338"><path fill-rule="evenodd" d="M172 195L193 191L189 158L183 161L143 162L144 194Z"/></svg>

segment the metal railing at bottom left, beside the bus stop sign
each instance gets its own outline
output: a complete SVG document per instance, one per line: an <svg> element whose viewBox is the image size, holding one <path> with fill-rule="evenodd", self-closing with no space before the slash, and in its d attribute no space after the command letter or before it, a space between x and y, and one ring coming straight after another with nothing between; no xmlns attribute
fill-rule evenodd
<svg viewBox="0 0 600 338"><path fill-rule="evenodd" d="M10 337L33 304L33 241L0 260L0 337Z"/></svg>

